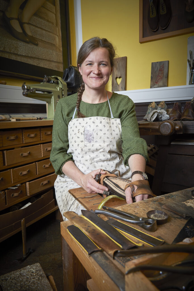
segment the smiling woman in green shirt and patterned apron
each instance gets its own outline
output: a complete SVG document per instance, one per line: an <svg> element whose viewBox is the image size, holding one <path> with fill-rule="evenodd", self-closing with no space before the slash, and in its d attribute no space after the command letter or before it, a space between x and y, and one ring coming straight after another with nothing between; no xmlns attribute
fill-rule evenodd
<svg viewBox="0 0 194 291"><path fill-rule="evenodd" d="M144 180L147 145L139 135L135 105L129 97L105 90L114 57L106 38L84 42L77 59L81 87L56 107L50 160L58 174L55 192L62 215L69 210L81 214L84 209L68 190L83 187L102 195L108 188L95 178L114 169L123 178L131 177L125 190L127 203L152 194Z"/></svg>

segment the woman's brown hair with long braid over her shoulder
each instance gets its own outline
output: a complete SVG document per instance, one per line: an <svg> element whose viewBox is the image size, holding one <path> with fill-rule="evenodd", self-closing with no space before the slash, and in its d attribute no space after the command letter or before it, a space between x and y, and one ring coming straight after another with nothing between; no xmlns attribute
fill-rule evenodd
<svg viewBox="0 0 194 291"><path fill-rule="evenodd" d="M83 61L87 58L87 56L94 50L99 47L106 48L108 50L110 62L111 62L111 68L114 66L114 58L115 58L115 49L111 42L109 42L106 38L99 38L99 37L93 37L90 38L89 40L86 40L81 48L79 49L79 53L77 56L77 66L78 68L81 67L81 64ZM76 103L76 109L77 109L77 117L78 118L83 118L86 117L84 116L80 111L79 111L79 106L81 102L81 97L83 94L83 91L85 90L85 84L83 82L82 76L81 76L81 86L78 89L78 98L77 98L77 103Z"/></svg>

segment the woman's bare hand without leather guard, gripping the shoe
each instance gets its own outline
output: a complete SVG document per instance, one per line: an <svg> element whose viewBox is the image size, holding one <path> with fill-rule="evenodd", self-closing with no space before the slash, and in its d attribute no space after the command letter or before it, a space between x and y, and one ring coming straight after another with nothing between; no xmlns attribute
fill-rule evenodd
<svg viewBox="0 0 194 291"><path fill-rule="evenodd" d="M99 174L106 174L106 171L102 169L94 170L87 175L81 176L81 187L86 190L88 193L101 193L108 191L108 188L96 182L95 178Z"/></svg>

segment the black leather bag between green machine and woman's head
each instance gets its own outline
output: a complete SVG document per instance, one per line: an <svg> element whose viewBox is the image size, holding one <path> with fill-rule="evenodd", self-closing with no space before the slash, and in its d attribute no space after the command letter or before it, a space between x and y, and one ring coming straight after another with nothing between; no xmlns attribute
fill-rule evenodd
<svg viewBox="0 0 194 291"><path fill-rule="evenodd" d="M80 72L77 67L69 66L63 72L63 80L67 83L69 88L77 88L81 85Z"/></svg>

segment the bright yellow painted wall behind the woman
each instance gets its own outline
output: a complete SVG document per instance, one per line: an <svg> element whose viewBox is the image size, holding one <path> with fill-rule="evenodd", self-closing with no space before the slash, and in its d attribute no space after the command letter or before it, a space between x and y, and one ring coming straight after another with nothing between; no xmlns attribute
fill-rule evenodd
<svg viewBox="0 0 194 291"><path fill-rule="evenodd" d="M150 88L151 63L157 61L169 61L168 86L186 85L187 38L193 33L140 44L138 0L81 0L81 14L83 42L105 37L119 57L127 56L126 90Z"/></svg>

